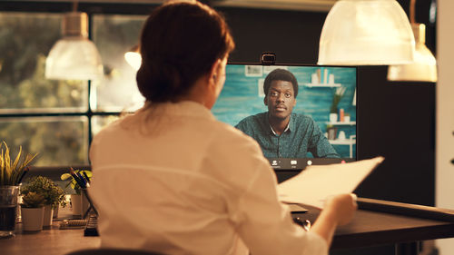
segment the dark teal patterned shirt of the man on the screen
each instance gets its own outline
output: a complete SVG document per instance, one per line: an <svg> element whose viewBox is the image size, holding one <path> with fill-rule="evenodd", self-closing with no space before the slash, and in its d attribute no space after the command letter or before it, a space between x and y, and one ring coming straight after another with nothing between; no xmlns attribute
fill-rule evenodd
<svg viewBox="0 0 454 255"><path fill-rule="evenodd" d="M307 115L291 113L290 123L281 135L268 121L268 112L244 118L235 126L259 142L266 158L339 158L314 120Z"/></svg>

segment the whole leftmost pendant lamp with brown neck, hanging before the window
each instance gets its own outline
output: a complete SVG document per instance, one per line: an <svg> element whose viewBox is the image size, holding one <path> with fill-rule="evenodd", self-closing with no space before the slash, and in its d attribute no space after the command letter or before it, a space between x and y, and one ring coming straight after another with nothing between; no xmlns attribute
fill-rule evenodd
<svg viewBox="0 0 454 255"><path fill-rule="evenodd" d="M58 80L96 80L104 76L101 55L88 40L88 16L64 15L63 38L52 47L45 61L45 77Z"/></svg>

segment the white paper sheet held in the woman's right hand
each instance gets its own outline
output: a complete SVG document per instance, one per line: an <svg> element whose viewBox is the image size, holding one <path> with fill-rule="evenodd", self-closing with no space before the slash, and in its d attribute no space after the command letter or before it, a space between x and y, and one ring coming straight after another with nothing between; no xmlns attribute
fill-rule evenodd
<svg viewBox="0 0 454 255"><path fill-rule="evenodd" d="M358 162L308 166L278 185L279 198L286 203L323 208L327 197L351 193L383 160L383 157L376 157Z"/></svg>

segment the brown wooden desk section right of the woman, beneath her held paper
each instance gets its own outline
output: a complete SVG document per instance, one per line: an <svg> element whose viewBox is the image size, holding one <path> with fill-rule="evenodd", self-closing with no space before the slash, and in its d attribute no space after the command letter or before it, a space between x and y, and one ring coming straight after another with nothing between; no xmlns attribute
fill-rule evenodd
<svg viewBox="0 0 454 255"><path fill-rule="evenodd" d="M309 212L295 213L294 216L313 223L320 211L307 208ZM454 222L359 210L353 221L336 230L331 250L395 244L396 254L417 254L417 241L452 237Z"/></svg>

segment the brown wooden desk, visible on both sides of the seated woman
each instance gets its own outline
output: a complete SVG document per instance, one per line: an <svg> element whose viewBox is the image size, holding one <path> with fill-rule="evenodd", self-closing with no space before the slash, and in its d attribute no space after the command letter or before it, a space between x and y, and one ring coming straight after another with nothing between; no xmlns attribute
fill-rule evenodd
<svg viewBox="0 0 454 255"><path fill-rule="evenodd" d="M320 211L309 208L308 213L295 213L302 219L314 222ZM99 237L84 237L84 230L59 230L54 221L51 230L23 234L21 224L16 226L14 238L0 240L2 254L49 254L64 255L73 250L100 246ZM350 224L340 227L333 239L331 249L350 249L385 244L407 244L419 240L434 240L454 237L454 223L433 221L394 215L384 212L359 210ZM398 252L413 254L413 250Z"/></svg>

